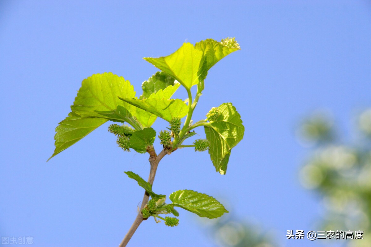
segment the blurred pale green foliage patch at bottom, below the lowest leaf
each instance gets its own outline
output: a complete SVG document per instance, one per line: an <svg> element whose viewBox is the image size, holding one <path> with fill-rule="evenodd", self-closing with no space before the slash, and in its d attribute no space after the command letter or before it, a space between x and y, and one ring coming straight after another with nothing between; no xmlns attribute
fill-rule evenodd
<svg viewBox="0 0 371 247"><path fill-rule="evenodd" d="M209 226L209 235L217 246L223 247L279 247L273 243L275 234L263 231L258 226L239 218L224 215L219 219L204 221Z"/></svg>

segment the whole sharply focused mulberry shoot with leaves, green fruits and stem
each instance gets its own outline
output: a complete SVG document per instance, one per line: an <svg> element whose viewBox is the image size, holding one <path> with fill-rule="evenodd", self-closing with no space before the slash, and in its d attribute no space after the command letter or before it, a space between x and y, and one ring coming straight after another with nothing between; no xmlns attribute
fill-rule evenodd
<svg viewBox="0 0 371 247"><path fill-rule="evenodd" d="M129 81L111 72L94 74L82 81L71 112L55 129L55 150L50 158L107 121L115 122L109 125L108 131L116 136L116 143L122 150L149 155L148 180L134 172L125 172L145 192L134 223L120 247L126 246L138 226L150 217L156 222L164 221L166 226L178 226L179 213L174 207L209 219L228 212L213 197L188 189L171 193L168 196L171 203L166 203L166 195L154 193L152 185L162 158L178 149L176 155L181 156L183 148L194 148L199 152L208 150L216 172L226 174L231 150L244 134L239 113L232 103L222 103L211 108L206 119L193 124L192 116L204 88L211 84L206 80L210 68L237 50L240 50L240 46L234 38L225 38L220 42L207 39L195 45L184 43L173 54L165 57L144 58L160 71L142 83L143 92L140 96L136 96ZM192 95L191 88L194 86L197 91ZM185 101L171 98L180 87L184 90ZM163 126L158 134L151 127L157 118L168 122L168 126ZM206 139L190 141L196 131L200 131L198 127L204 130ZM153 146L156 136L161 144L159 153Z"/></svg>

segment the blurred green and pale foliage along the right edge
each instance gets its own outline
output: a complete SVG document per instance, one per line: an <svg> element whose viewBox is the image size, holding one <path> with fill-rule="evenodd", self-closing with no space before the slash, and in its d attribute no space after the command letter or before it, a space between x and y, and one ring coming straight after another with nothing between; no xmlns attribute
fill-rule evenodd
<svg viewBox="0 0 371 247"><path fill-rule="evenodd" d="M303 121L298 133L314 145L300 170L302 185L322 200L321 230L364 231L364 240L326 240L347 247L371 246L371 110L357 118L355 141L336 138L336 126L326 114ZM341 241L341 242L340 242ZM344 244L344 245L343 245Z"/></svg>

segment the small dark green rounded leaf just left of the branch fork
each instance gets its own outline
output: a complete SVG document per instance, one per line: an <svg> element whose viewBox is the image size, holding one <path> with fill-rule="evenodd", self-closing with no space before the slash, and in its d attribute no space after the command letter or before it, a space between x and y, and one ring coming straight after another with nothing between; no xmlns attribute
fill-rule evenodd
<svg viewBox="0 0 371 247"><path fill-rule="evenodd" d="M138 153L147 152L147 147L151 146L156 138L156 131L152 128L144 128L132 133L129 141L130 148Z"/></svg>

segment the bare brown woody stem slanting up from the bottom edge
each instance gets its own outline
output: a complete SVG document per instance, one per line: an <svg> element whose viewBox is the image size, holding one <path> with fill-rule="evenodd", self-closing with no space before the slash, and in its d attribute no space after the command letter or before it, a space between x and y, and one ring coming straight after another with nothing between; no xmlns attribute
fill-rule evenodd
<svg viewBox="0 0 371 247"><path fill-rule="evenodd" d="M150 175L148 177L148 183L153 185L153 181L155 180L155 175L156 175L156 170L157 170L158 163L160 162L160 160L162 158L164 158L164 156L166 154L170 154L171 152L169 153L169 151L167 151L165 149L162 149L162 151L157 155L153 146L149 146L148 149L147 149L147 152L150 154L150 158L148 160L149 160L150 165L151 165ZM148 203L149 199L150 199L150 195L146 191L144 193L142 204L141 204L141 207L140 207L139 212L137 214L137 217L135 218L133 224L131 225L129 231L125 235L125 237L122 240L119 247L125 247L128 244L129 240L131 239L131 237L133 236L135 231L138 229L139 225L144 220L143 216L142 216L142 209L144 208L145 204Z"/></svg>

